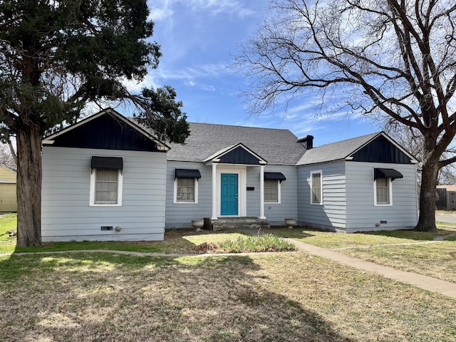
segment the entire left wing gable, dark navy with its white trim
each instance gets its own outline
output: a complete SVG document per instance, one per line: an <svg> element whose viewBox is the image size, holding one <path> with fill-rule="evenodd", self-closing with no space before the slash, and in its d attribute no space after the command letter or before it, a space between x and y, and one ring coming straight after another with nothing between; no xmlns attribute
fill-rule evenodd
<svg viewBox="0 0 456 342"><path fill-rule="evenodd" d="M43 144L57 147L150 152L169 149L150 133L113 109L103 110L76 125L50 135L43 140Z"/></svg>

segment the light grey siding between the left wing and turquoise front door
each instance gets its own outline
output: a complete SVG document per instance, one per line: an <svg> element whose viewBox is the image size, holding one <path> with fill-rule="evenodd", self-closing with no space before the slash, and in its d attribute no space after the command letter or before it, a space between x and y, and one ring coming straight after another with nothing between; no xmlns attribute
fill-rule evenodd
<svg viewBox="0 0 456 342"><path fill-rule="evenodd" d="M175 169L199 170L197 203L175 203ZM202 162L167 162L166 171L166 227L191 228L192 219L211 217L212 214L212 167Z"/></svg>

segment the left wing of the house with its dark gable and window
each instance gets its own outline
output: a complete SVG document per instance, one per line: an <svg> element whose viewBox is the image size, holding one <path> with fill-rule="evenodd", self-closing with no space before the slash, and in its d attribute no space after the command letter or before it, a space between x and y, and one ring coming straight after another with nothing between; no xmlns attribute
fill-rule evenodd
<svg viewBox="0 0 456 342"><path fill-rule="evenodd" d="M163 239L169 148L111 109L46 137L43 241Z"/></svg>

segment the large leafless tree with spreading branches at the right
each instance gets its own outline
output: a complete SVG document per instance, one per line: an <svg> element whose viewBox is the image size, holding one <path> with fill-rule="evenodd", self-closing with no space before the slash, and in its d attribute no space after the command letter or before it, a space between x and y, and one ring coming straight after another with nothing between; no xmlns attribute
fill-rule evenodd
<svg viewBox="0 0 456 342"><path fill-rule="evenodd" d="M417 230L435 227L442 154L456 133L456 3L447 0L273 0L276 11L234 62L252 80L252 113L307 88L350 110L384 115L423 137Z"/></svg>

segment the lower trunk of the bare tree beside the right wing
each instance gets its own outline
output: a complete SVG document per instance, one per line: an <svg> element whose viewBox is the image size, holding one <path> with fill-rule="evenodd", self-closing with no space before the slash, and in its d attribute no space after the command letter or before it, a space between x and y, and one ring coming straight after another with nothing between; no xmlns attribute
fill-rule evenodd
<svg viewBox="0 0 456 342"><path fill-rule="evenodd" d="M437 161L423 161L420 191L420 218L415 230L420 232L436 232L435 227L435 200L438 174Z"/></svg>

